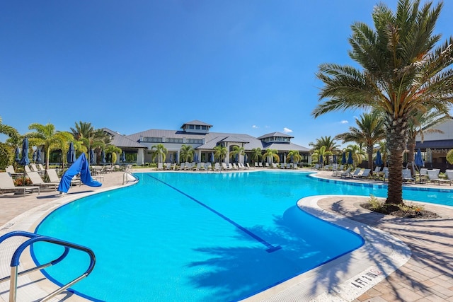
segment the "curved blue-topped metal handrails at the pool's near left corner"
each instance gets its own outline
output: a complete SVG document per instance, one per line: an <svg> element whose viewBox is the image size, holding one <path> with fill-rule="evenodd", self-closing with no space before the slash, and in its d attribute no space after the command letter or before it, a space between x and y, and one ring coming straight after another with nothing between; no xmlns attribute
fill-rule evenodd
<svg viewBox="0 0 453 302"><path fill-rule="evenodd" d="M4 240L11 238L13 236L21 236L21 237L26 237L29 239L25 240L25 242L23 242L21 245L18 246L18 248L16 248L16 251L14 252L13 257L11 259L11 275L0 279L0 283L11 280L10 285L9 285L9 302L16 302L17 279L19 276L21 276L23 274L28 274L30 272L35 272L38 269L45 269L46 267L56 265L58 262L62 261L69 254L70 249L81 250L83 252L86 252L89 255L90 265L88 266L88 269L86 269L84 274L81 274L80 277L77 277L76 279L70 281L68 284L61 286L59 289L52 292L52 294L45 296L40 301L48 301L50 298L57 296L57 294L60 294L62 291L66 290L70 286L76 284L76 282L80 281L81 279L84 279L85 277L88 277L88 274L90 274L91 271L93 271L94 265L96 263L96 257L94 255L94 252L89 248L86 248L82 245L77 245L75 243L69 243L64 240L59 240L57 238L41 236L41 235L38 235L35 233L29 233L29 232L25 232L25 231L12 231L10 233L6 233L4 236L0 237L0 243L2 243ZM28 246L33 245L33 243L42 242L42 241L47 242L47 243L52 243L55 245L61 245L64 247L64 252L57 259L52 260L52 261L46 263L45 265L39 265L39 266L33 267L31 269L26 269L23 272L18 272L19 258L21 257L21 254L25 250L25 248L28 248Z"/></svg>

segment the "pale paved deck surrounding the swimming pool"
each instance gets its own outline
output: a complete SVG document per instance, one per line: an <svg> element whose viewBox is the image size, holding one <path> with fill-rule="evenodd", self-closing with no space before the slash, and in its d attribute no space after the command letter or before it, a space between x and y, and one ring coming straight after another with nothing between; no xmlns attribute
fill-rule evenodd
<svg viewBox="0 0 453 302"><path fill-rule="evenodd" d="M331 171L309 171L319 178L340 180ZM40 219L64 203L122 187L122 175L105 174L102 187L71 187L64 197L55 191L25 197L0 195L0 236L16 230L33 231ZM453 190L449 185L421 186ZM299 200L299 207L311 214L360 233L365 245L246 301L453 301L453 207L423 204L441 218L401 219L362 209L360 203L367 199L324 195ZM10 273L9 262L16 244L17 240L10 238L0 245L0 278ZM30 255L25 254L20 270L32 266ZM8 284L0 284L0 301L8 301ZM55 288L35 272L19 278L18 301L36 301ZM66 291L51 301L86 300Z"/></svg>

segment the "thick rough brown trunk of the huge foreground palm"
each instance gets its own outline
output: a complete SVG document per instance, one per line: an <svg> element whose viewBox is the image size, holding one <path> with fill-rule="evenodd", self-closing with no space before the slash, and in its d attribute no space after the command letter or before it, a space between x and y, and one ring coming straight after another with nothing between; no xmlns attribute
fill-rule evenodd
<svg viewBox="0 0 453 302"><path fill-rule="evenodd" d="M389 156L389 187L386 204L403 204L403 153L406 147L407 118L387 117L387 149ZM389 121L389 122L388 122Z"/></svg>

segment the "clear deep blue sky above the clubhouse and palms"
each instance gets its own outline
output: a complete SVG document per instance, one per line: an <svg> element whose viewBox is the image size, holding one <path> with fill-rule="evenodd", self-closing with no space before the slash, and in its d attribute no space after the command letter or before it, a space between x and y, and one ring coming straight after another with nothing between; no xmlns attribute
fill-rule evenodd
<svg viewBox="0 0 453 302"><path fill-rule="evenodd" d="M212 132L287 132L308 147L355 126L360 112L311 116L314 74L354 64L350 25L372 25L377 2L1 1L0 117L21 134L33 122L133 134L201 120Z"/></svg>

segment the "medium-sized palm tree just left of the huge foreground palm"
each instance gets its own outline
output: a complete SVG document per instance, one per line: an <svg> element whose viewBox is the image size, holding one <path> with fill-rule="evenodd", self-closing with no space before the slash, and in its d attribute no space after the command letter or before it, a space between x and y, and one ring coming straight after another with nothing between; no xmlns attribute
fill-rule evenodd
<svg viewBox="0 0 453 302"><path fill-rule="evenodd" d="M357 144L365 144L368 156L368 168L373 170L374 145L385 139L384 120L379 112L374 110L370 113L362 113L360 119L356 118L356 127L349 127L349 132L338 134L336 139L343 139L343 144L354 141Z"/></svg>

